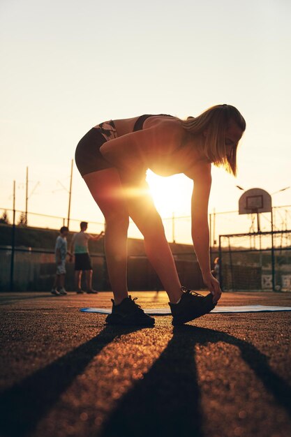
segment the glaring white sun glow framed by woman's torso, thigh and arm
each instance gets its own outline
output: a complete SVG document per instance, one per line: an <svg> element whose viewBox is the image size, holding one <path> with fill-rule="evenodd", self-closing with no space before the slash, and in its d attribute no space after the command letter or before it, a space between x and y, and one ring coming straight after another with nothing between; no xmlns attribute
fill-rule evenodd
<svg viewBox="0 0 291 437"><path fill-rule="evenodd" d="M151 170L147 171L147 183L156 205L163 218L191 214L191 194L193 181L185 175L162 177Z"/></svg>

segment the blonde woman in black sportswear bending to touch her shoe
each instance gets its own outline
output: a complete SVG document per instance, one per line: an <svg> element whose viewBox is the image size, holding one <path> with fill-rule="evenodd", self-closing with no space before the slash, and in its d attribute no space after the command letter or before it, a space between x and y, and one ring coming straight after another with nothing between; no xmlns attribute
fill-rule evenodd
<svg viewBox="0 0 291 437"><path fill-rule="evenodd" d="M129 218L144 235L149 261L169 296L172 324L186 323L214 309L221 288L211 274L209 259L211 163L236 175L237 146L245 128L237 108L224 104L186 120L144 114L105 121L80 140L75 162L106 221L105 254L114 294L107 323L154 325L154 318L128 296ZM161 216L145 180L148 168L162 176L184 173L193 179L192 237L203 281L210 290L206 297L181 286Z"/></svg>

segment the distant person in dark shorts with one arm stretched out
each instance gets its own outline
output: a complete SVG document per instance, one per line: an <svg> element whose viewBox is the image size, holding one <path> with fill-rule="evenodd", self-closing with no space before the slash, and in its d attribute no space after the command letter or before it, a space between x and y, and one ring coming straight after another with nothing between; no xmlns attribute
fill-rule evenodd
<svg viewBox="0 0 291 437"><path fill-rule="evenodd" d="M102 238L104 232L100 232L99 235L93 237L93 235L87 234L86 230L88 228L87 221L81 221L80 223L80 232L77 232L73 235L72 243L71 243L71 252L75 255L75 284L76 284L76 292L77 294L82 294L84 291L82 290L82 272L85 272L85 279L87 285L87 293L90 295L96 295L98 291L93 290L92 288L92 276L93 269L91 265L91 259L89 255L88 242L89 240L97 241Z"/></svg>

